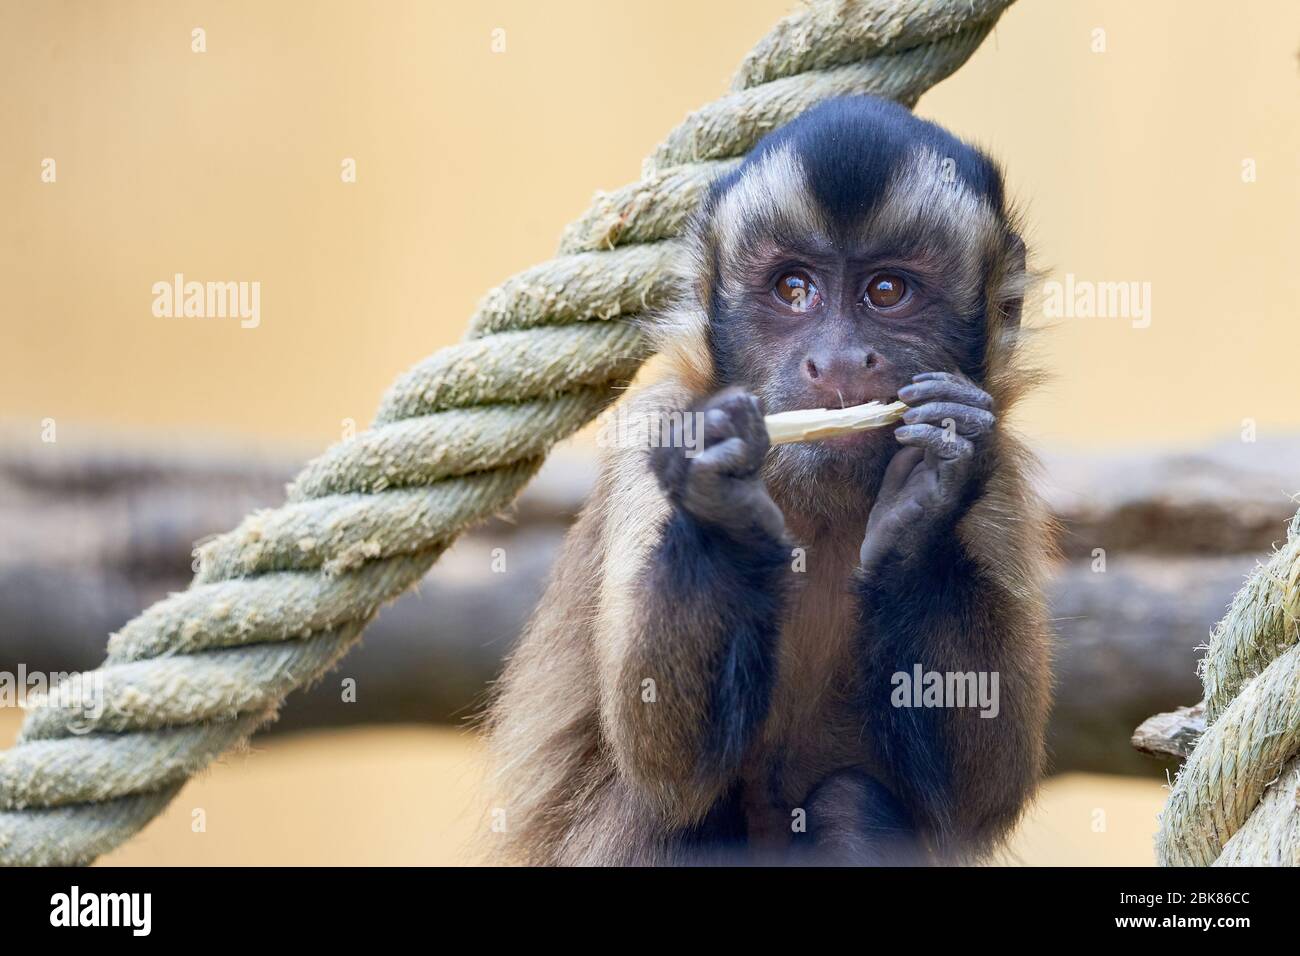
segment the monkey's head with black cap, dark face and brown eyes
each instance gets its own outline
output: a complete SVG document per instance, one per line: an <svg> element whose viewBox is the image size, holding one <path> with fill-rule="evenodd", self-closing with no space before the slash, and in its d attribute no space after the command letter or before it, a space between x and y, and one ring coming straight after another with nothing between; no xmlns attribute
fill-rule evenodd
<svg viewBox="0 0 1300 956"><path fill-rule="evenodd" d="M755 147L697 224L716 378L767 412L893 401L920 372L979 381L989 284L1018 243L982 153L893 104L826 104ZM771 471L874 481L896 450L879 429L783 446Z"/></svg>

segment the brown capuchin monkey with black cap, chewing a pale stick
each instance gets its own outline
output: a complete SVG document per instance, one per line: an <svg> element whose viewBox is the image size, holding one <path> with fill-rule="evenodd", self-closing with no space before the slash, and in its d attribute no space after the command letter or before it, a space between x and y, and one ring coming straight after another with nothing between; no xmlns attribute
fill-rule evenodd
<svg viewBox="0 0 1300 956"><path fill-rule="evenodd" d="M720 178L690 242L667 376L629 399L671 427L607 449L495 692L497 858L984 858L1050 683L1001 172L836 99ZM764 414L894 398L897 425L770 447Z"/></svg>

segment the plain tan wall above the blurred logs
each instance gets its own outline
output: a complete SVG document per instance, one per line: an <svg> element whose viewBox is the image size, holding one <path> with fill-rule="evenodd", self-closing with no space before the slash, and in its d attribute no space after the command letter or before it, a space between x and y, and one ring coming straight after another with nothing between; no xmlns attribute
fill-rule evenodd
<svg viewBox="0 0 1300 956"><path fill-rule="evenodd" d="M634 178L788 7L8 8L0 415L53 416L61 441L78 423L338 437L595 187ZM1152 284L1150 328L1057 324L1037 437L1300 427L1297 36L1291 0L1023 0L922 101L1005 160L1045 264ZM174 272L260 281L261 325L153 317Z"/></svg>

